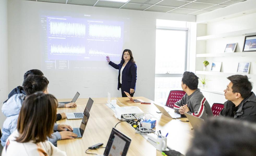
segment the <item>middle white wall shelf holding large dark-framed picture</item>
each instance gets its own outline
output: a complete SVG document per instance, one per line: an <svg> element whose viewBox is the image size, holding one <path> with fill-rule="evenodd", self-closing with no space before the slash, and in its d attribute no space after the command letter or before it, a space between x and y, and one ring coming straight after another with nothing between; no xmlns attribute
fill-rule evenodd
<svg viewBox="0 0 256 156"><path fill-rule="evenodd" d="M256 56L256 51L197 54L197 57L237 57L237 56Z"/></svg>

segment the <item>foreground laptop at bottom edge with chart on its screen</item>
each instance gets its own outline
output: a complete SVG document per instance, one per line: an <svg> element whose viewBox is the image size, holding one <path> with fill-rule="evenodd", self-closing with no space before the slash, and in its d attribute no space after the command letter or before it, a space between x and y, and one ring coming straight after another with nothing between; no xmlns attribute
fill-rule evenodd
<svg viewBox="0 0 256 156"><path fill-rule="evenodd" d="M104 154L98 156L126 156L130 143L131 139L129 137L112 128Z"/></svg>

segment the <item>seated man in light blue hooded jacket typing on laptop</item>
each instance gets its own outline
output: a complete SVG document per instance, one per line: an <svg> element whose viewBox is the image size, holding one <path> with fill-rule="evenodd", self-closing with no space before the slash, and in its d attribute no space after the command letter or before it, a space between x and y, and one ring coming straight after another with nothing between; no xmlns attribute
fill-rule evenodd
<svg viewBox="0 0 256 156"><path fill-rule="evenodd" d="M4 146L6 143L6 139L9 135L17 129L17 120L19 117L20 109L22 106L23 101L25 100L26 96L29 96L37 91L42 91L44 93L48 93L48 84L49 81L44 76L39 75L31 75L28 76L22 86L26 93L24 94L15 94L6 103L2 106L2 112L7 117L3 124L2 129L2 137L1 137L1 144ZM66 131L66 130L69 131ZM57 140L61 139L74 139L77 135L71 132L73 129L69 125L54 125L54 131L61 131L55 132L52 134L51 138L48 140L53 144L57 145Z"/></svg>

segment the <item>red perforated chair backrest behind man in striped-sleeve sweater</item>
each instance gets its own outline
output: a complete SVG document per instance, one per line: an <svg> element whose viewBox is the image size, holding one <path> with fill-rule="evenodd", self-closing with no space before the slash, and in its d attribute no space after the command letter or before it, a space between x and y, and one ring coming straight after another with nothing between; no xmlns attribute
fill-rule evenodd
<svg viewBox="0 0 256 156"><path fill-rule="evenodd" d="M165 106L173 108L173 105L177 101L179 101L185 94L186 92L184 92L183 90L171 90Z"/></svg>

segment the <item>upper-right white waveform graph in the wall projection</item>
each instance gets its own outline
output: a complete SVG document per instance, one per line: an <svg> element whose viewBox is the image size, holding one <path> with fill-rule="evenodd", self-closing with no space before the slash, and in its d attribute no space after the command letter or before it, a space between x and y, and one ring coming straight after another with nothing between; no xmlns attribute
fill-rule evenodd
<svg viewBox="0 0 256 156"><path fill-rule="evenodd" d="M121 26L89 24L89 36L121 38Z"/></svg>

